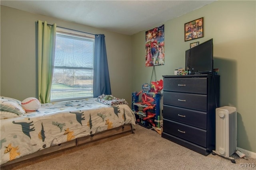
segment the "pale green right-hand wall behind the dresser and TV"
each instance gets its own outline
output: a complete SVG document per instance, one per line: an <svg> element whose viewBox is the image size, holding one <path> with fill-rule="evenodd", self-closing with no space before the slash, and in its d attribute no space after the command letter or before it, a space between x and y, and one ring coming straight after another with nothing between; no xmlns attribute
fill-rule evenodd
<svg viewBox="0 0 256 170"><path fill-rule="evenodd" d="M201 17L204 37L184 42L184 23ZM220 106L237 108L237 146L256 152L256 1L216 1L163 24L165 65L155 67L157 78L185 67L190 43L213 38L214 68L220 69ZM152 74L152 67L145 67L145 31L132 35L132 91L140 91Z"/></svg>

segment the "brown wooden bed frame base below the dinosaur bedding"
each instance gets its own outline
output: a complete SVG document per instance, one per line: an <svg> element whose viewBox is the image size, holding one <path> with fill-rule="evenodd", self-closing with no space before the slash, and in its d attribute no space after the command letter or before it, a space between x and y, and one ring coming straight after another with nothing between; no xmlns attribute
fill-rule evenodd
<svg viewBox="0 0 256 170"><path fill-rule="evenodd" d="M1 170L15 170L24 166L42 162L44 160L62 156L64 154L76 152L80 149L85 149L101 143L105 143L107 141L112 141L114 139L130 135L132 133L133 131L131 124L122 125L120 127L92 134L90 136L80 137L72 141L61 143L54 147L50 147L26 156L22 156L20 158L2 164L0 168Z"/></svg>

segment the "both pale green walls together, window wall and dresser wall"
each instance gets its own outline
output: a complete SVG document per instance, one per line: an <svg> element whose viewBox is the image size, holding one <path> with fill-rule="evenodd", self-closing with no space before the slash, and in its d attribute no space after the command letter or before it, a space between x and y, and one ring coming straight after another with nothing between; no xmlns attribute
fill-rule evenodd
<svg viewBox="0 0 256 170"><path fill-rule="evenodd" d="M0 12L2 96L19 100L37 97L37 20L105 34L114 96L131 104L131 93L139 92L142 84L150 81L152 67L145 67L146 30L128 36L5 6L1 6ZM184 42L184 23L201 17L204 17L204 37ZM185 51L190 43L213 38L214 68L220 69L220 105L237 108L238 147L256 152L256 1L216 1L162 24L165 65L156 66L157 78L172 75L174 69L185 66Z"/></svg>

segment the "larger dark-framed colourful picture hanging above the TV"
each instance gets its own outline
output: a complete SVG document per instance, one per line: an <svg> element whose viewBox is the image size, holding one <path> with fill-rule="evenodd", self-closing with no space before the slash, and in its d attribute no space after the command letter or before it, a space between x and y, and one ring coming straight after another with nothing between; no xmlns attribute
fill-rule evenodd
<svg viewBox="0 0 256 170"><path fill-rule="evenodd" d="M204 18L185 23L185 41L204 37Z"/></svg>

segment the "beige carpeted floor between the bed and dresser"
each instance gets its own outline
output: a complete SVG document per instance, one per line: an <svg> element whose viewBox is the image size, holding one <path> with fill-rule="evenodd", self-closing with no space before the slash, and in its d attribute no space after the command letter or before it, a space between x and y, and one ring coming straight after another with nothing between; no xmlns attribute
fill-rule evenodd
<svg viewBox="0 0 256 170"><path fill-rule="evenodd" d="M256 159L236 164L218 155L203 156L136 125L134 134L19 170L237 170L256 169ZM254 166L254 167L253 167Z"/></svg>

